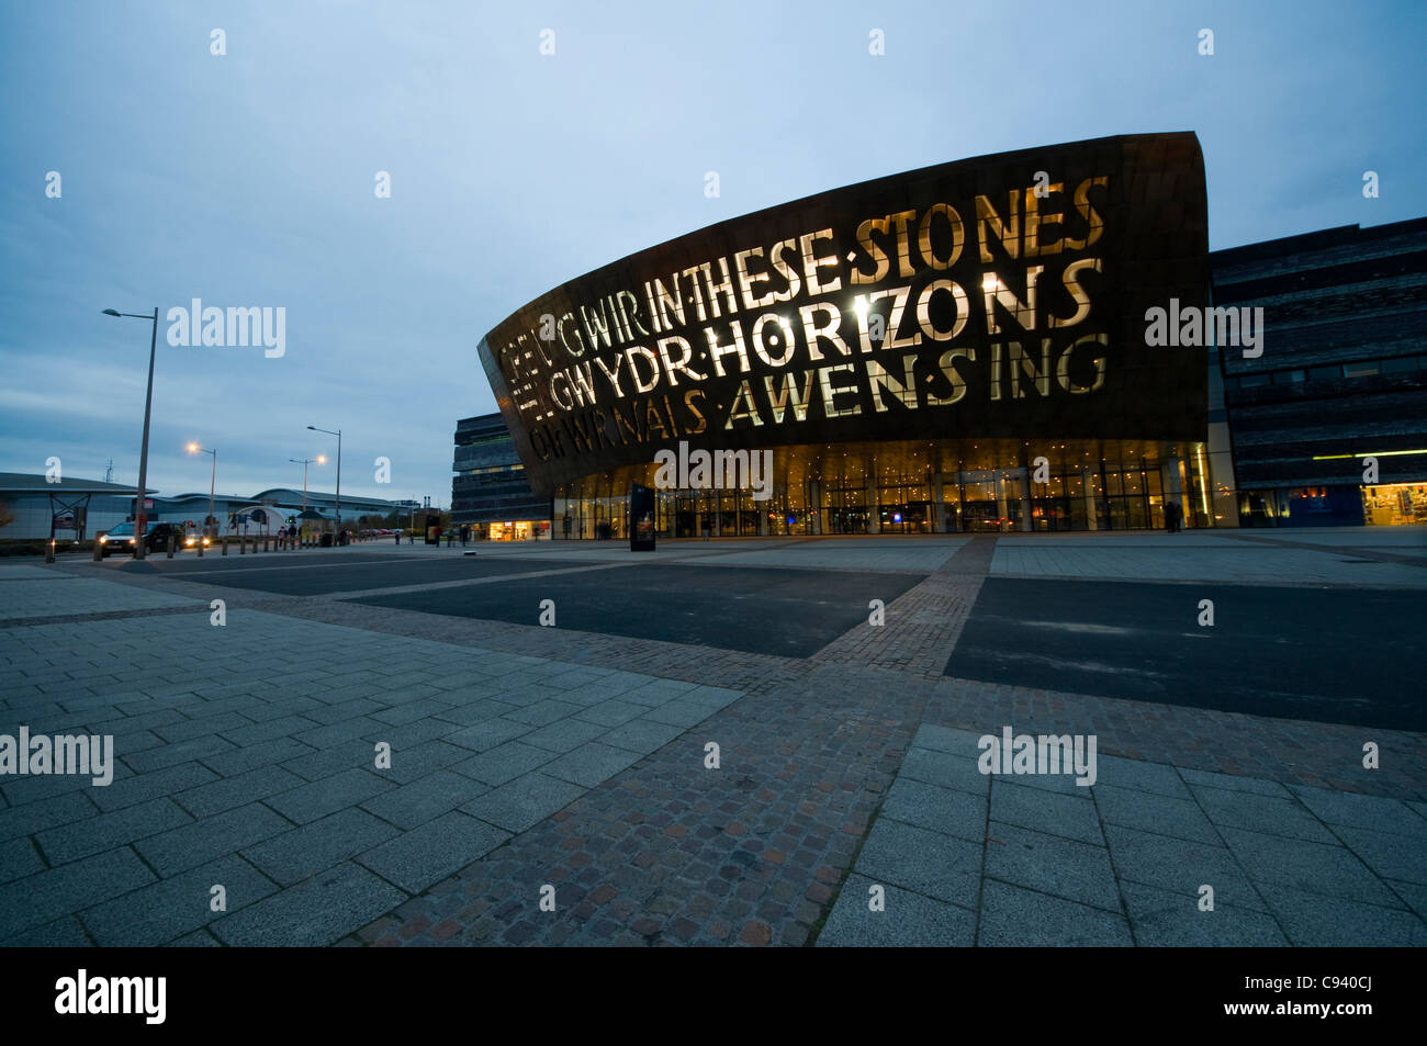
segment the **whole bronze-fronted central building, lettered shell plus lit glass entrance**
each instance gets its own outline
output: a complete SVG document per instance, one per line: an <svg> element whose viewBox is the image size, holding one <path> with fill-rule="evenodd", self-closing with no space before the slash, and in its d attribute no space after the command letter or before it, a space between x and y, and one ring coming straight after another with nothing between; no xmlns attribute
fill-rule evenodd
<svg viewBox="0 0 1427 1046"><path fill-rule="evenodd" d="M631 482L674 537L1203 525L1206 348L1146 317L1209 305L1207 245L1192 133L1097 138L711 225L479 352L555 538Z"/></svg>

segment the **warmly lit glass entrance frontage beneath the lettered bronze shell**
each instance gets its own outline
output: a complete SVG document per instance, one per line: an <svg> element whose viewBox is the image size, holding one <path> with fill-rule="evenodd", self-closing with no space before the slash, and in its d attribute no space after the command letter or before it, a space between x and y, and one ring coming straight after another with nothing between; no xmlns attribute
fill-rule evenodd
<svg viewBox="0 0 1427 1046"><path fill-rule="evenodd" d="M785 447L769 497L749 489L658 489L655 468L565 484L557 539L628 538L631 482L656 488L664 538L1126 531L1212 525L1203 445L1153 441L942 441Z"/></svg>

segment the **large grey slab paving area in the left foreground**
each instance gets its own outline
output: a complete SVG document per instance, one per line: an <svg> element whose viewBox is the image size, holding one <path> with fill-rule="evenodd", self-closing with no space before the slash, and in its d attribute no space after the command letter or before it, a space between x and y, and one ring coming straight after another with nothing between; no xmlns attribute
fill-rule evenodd
<svg viewBox="0 0 1427 1046"><path fill-rule="evenodd" d="M205 604L158 635L104 619L6 638L37 691L20 696L9 669L6 719L108 733L117 756L107 786L0 785L9 945L203 928L230 945L330 943L741 696L260 611L218 629ZM227 913L208 909L214 885Z"/></svg>

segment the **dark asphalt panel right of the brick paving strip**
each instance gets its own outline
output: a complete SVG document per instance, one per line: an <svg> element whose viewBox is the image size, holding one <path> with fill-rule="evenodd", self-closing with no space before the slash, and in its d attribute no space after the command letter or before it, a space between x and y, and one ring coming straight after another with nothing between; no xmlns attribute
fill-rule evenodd
<svg viewBox="0 0 1427 1046"><path fill-rule="evenodd" d="M1421 731L1424 655L1420 591L987 578L946 674Z"/></svg>

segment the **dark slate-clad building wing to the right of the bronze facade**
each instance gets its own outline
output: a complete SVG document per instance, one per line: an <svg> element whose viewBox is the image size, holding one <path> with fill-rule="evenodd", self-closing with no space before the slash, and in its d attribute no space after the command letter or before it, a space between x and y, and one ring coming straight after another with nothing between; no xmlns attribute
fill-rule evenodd
<svg viewBox="0 0 1427 1046"><path fill-rule="evenodd" d="M1427 522L1427 218L1210 265L1216 307L1263 308L1261 355L1220 350L1240 525Z"/></svg>

